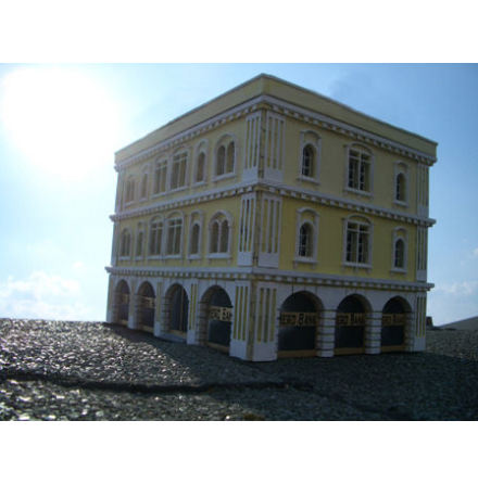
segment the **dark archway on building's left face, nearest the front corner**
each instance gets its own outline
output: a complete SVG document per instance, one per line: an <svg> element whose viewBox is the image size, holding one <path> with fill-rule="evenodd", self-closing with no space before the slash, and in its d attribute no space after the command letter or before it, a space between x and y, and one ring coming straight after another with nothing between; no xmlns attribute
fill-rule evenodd
<svg viewBox="0 0 478 484"><path fill-rule="evenodd" d="M202 302L203 317L202 343L221 352L229 353L232 329L232 304L227 292L214 285L204 294Z"/></svg>

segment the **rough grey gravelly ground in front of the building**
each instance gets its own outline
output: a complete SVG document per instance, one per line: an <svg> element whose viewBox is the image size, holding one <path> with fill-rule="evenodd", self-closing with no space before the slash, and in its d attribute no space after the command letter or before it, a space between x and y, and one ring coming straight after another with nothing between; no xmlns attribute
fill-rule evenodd
<svg viewBox="0 0 478 484"><path fill-rule="evenodd" d="M478 420L478 331L253 364L118 326L1 319L0 420Z"/></svg>

